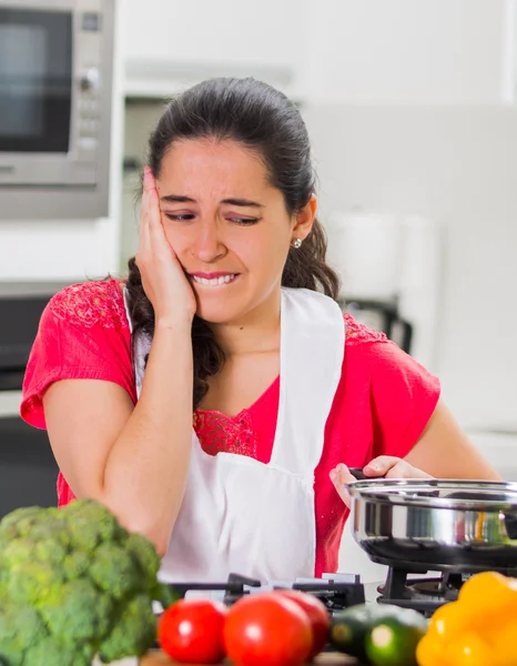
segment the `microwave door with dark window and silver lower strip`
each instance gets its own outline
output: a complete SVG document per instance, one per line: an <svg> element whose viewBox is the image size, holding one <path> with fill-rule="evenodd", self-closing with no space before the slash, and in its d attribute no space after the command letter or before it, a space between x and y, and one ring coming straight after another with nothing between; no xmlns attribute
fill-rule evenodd
<svg viewBox="0 0 517 666"><path fill-rule="evenodd" d="M72 64L72 10L0 8L0 184L63 182Z"/></svg>

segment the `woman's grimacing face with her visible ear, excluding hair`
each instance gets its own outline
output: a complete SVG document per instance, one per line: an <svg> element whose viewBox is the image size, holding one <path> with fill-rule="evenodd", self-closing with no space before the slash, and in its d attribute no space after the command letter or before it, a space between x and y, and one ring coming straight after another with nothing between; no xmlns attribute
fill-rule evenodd
<svg viewBox="0 0 517 666"><path fill-rule="evenodd" d="M230 140L174 143L156 186L165 235L202 319L232 323L277 306L290 245L311 231L315 201L290 215L260 157Z"/></svg>

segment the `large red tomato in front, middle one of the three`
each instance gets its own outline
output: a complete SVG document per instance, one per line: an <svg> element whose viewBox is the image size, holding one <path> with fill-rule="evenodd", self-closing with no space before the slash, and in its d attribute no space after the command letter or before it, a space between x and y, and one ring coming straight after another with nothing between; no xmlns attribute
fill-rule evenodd
<svg viewBox="0 0 517 666"><path fill-rule="evenodd" d="M311 623L291 599L275 593L253 594L230 608L224 646L239 666L298 666L313 646Z"/></svg>

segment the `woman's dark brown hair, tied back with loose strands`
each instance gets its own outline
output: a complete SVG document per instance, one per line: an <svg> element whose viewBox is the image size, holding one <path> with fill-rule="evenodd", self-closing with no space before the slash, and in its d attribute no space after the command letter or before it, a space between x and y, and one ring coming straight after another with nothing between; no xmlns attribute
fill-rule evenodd
<svg viewBox="0 0 517 666"><path fill-rule="evenodd" d="M290 214L302 210L314 193L314 170L305 123L296 107L280 91L254 79L213 79L174 98L149 141L149 165L155 176L170 145L180 139L231 139L256 151L270 182L284 195ZM336 299L339 282L325 263L326 239L315 220L298 249L290 249L282 285L322 291ZM154 332L154 311L142 286L134 258L126 282L134 336ZM206 377L224 364L224 353L210 325L197 316L192 323L194 410L207 392Z"/></svg>

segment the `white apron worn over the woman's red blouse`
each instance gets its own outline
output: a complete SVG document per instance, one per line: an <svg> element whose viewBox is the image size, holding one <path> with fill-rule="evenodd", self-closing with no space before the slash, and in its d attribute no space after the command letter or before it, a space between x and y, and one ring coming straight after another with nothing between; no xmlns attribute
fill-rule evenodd
<svg viewBox="0 0 517 666"><path fill-rule="evenodd" d="M131 322L130 322L131 325ZM193 432L185 495L162 561L163 581L262 582L314 576L314 471L339 379L345 327L323 294L283 289L280 403L271 462L209 455ZM136 392L150 340L135 351ZM172 428L172 426L171 426Z"/></svg>

